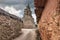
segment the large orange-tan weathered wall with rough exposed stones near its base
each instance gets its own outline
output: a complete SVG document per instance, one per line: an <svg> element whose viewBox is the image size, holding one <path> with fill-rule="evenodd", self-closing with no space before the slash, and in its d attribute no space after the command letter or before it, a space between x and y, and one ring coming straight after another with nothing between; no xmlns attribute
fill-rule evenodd
<svg viewBox="0 0 60 40"><path fill-rule="evenodd" d="M60 0L47 1L39 30L42 40L60 40Z"/></svg>

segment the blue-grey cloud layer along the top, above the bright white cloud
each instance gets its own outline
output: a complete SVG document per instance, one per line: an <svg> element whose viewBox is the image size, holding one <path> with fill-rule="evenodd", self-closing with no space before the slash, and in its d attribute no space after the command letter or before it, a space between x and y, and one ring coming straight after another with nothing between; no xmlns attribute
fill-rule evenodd
<svg viewBox="0 0 60 40"><path fill-rule="evenodd" d="M33 0L0 0L0 6L14 6L16 9L24 9L28 3L31 8L34 8Z"/></svg>

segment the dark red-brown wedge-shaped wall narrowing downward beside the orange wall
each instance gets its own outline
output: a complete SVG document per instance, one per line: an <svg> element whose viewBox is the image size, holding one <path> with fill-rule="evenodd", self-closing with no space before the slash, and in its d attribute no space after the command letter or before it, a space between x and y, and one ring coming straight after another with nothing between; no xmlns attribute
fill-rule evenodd
<svg viewBox="0 0 60 40"><path fill-rule="evenodd" d="M35 14L37 16L37 23L39 23L39 20L41 18L42 12L45 8L45 4L46 4L47 0L34 0L34 4L35 4Z"/></svg>

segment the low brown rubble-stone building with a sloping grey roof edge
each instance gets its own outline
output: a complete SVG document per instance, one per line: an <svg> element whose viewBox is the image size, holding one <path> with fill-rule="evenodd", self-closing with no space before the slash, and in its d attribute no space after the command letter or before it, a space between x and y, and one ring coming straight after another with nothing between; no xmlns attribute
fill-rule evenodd
<svg viewBox="0 0 60 40"><path fill-rule="evenodd" d="M0 9L0 40L11 40L21 34L22 20Z"/></svg>

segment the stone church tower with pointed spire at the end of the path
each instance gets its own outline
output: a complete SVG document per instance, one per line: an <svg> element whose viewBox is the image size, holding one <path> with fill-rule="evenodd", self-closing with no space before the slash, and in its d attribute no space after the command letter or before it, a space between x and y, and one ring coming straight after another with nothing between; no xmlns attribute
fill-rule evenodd
<svg viewBox="0 0 60 40"><path fill-rule="evenodd" d="M32 17L32 11L29 7L29 4L26 6L26 9L24 9L24 16L22 19L23 19L23 24L24 24L23 28L35 27L34 19Z"/></svg>

